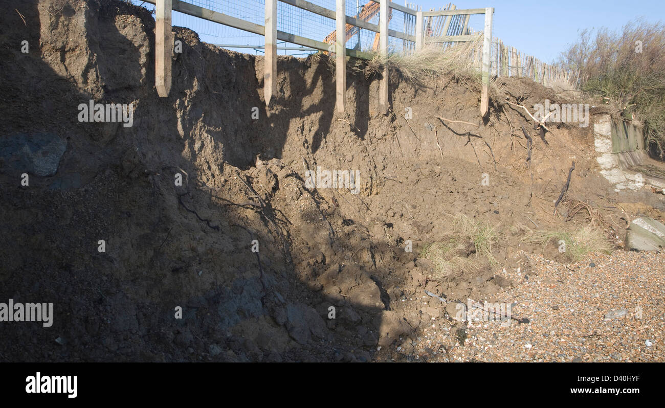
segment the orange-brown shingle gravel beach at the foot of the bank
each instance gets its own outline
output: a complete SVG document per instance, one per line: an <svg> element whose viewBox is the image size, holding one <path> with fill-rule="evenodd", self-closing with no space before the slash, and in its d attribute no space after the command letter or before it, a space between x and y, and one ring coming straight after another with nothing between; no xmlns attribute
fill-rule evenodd
<svg viewBox="0 0 665 408"><path fill-rule="evenodd" d="M519 284L495 300L517 302L513 316L529 324L454 322L442 310L420 332L416 360L665 361L665 253L616 251L569 265L527 256L530 279L505 270Z"/></svg>

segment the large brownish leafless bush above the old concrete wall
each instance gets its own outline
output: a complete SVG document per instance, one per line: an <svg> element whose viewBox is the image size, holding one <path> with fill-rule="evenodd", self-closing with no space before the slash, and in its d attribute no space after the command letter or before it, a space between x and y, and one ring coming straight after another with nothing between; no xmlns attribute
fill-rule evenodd
<svg viewBox="0 0 665 408"><path fill-rule="evenodd" d="M638 41L641 41L641 52ZM588 29L561 53L559 64L580 70L581 89L617 116L644 125L652 152L665 157L665 26L637 19L620 32Z"/></svg>

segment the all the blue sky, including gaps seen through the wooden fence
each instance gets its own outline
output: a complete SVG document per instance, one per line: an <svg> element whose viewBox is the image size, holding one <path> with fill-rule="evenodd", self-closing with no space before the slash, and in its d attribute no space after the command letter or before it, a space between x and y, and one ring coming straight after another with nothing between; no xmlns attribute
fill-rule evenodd
<svg viewBox="0 0 665 408"><path fill-rule="evenodd" d="M142 3L141 0L133 1L134 3ZM231 15L237 13L237 17L247 16L246 18L255 23L262 23L263 20L262 1L188 1L198 4L209 3L217 11ZM334 5L334 0L310 1L325 5L328 8L332 8L331 5ZM361 5L366 2L366 0L358 1ZM349 4L354 8L355 0L346 0L346 2L347 8L350 7ZM430 8L440 9L447 5L450 0L408 0L408 2L420 5L423 10L429 10ZM396 3L404 5L404 0L396 1ZM552 2L543 0L458 0L453 3L457 5L458 9L494 7L493 35L499 37L505 45L515 47L518 51L535 56L543 62L551 62L559 56L559 52L567 49L569 44L575 43L581 29L597 29L600 27L620 29L637 17L643 17L649 23L665 22L664 0L556 0ZM152 9L150 4L144 3L144 5ZM230 27L221 26L217 28L219 25L214 23L207 23L194 17L179 14L174 13L174 25L184 25L198 31L201 41L217 44L257 45L263 43L261 37L257 35L231 29ZM328 21L325 17L318 18L323 19L323 22L329 23L331 26L317 25L317 21L293 21L289 27L294 27L293 30L295 31L299 31L304 27L307 32L316 32L318 35L312 35L311 37L322 37L315 38L321 41L326 33L334 29L334 21ZM481 15L472 17L469 26L476 31L482 30L482 18ZM391 28L399 29L398 27ZM206 35L203 31L214 32L215 35ZM295 34L305 35L305 33ZM373 35L373 33L369 34ZM365 40L364 44L367 43L368 41ZM350 45L348 46L350 47ZM235 51L261 52L252 49L235 49ZM285 51L279 51L279 54L283 53ZM287 53L297 52L287 51Z"/></svg>

